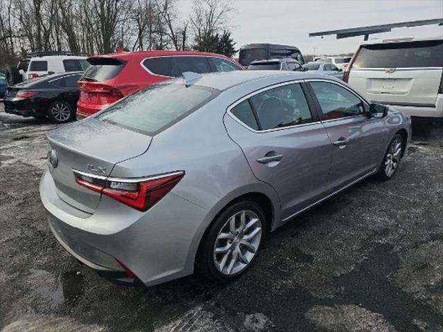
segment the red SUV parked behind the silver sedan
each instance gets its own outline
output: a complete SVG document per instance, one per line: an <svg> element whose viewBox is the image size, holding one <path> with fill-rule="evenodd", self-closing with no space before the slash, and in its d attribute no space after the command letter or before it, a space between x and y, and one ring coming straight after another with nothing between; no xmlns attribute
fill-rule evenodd
<svg viewBox="0 0 443 332"><path fill-rule="evenodd" d="M125 95L186 71L244 70L224 55L174 50L112 53L89 57L88 62L92 66L78 81L77 118L91 116Z"/></svg>

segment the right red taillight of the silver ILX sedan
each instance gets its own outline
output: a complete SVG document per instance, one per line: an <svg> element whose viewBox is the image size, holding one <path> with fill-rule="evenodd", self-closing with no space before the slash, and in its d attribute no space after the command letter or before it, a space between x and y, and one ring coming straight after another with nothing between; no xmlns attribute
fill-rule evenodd
<svg viewBox="0 0 443 332"><path fill-rule="evenodd" d="M75 182L139 211L147 211L179 183L185 172L150 178L106 178L74 171Z"/></svg>

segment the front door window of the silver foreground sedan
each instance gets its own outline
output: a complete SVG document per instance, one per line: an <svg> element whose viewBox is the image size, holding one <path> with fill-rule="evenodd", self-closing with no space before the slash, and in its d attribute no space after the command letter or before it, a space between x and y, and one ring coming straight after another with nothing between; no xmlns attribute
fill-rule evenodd
<svg viewBox="0 0 443 332"><path fill-rule="evenodd" d="M354 93L337 84L311 83L325 120L359 116L363 114L363 102Z"/></svg>

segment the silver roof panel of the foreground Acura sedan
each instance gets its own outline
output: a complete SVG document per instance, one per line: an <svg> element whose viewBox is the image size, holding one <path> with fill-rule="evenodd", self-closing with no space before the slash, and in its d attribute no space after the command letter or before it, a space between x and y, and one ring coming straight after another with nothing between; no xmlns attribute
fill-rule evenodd
<svg viewBox="0 0 443 332"><path fill-rule="evenodd" d="M208 88L224 91L246 82L266 80L270 77L273 77L274 80L278 80L280 78L282 82L291 80L305 80L308 78L336 80L334 77L309 73L307 71L229 71L226 73L201 74L201 78L195 82L195 85L206 86ZM173 83L174 81L177 83L183 83L183 78L177 78L169 82Z"/></svg>

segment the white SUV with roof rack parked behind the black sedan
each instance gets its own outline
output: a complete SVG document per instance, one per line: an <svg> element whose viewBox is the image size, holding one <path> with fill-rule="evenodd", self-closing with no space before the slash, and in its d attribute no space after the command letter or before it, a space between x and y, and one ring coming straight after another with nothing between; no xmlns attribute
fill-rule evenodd
<svg viewBox="0 0 443 332"><path fill-rule="evenodd" d="M17 67L6 68L6 79L12 86L44 75L84 71L90 66L86 59L72 52L34 52L21 60Z"/></svg>

